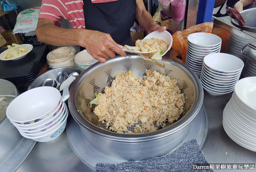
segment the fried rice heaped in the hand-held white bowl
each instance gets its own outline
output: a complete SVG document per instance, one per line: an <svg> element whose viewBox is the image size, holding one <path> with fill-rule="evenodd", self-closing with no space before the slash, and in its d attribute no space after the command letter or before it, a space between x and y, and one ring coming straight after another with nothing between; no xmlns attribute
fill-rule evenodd
<svg viewBox="0 0 256 172"><path fill-rule="evenodd" d="M164 52L167 51L168 44L162 39L158 38L150 38L150 39L138 39L135 42L135 46L139 47L141 51L148 52L148 51L154 51L153 53L147 53L147 54L140 54L141 57L150 59L154 54L160 52L160 49Z"/></svg>

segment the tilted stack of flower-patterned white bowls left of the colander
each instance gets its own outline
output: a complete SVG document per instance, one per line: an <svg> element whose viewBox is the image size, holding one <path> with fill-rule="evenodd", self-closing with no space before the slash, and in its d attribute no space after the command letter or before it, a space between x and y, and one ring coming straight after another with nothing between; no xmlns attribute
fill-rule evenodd
<svg viewBox="0 0 256 172"><path fill-rule="evenodd" d="M23 137L51 141L67 124L68 107L60 99L56 88L37 87L16 97L7 107L6 116Z"/></svg>

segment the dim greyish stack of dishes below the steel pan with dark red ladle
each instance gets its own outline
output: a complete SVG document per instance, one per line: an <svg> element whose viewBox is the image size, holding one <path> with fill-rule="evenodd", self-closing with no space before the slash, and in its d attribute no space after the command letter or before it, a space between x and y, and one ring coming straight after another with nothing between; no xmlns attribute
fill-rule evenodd
<svg viewBox="0 0 256 172"><path fill-rule="evenodd" d="M247 42L245 42L244 38L240 37L238 34L232 33L229 38L227 53L235 55L245 63L247 58L243 54L241 54L241 49L246 44ZM249 50L244 49L244 53L249 54Z"/></svg>

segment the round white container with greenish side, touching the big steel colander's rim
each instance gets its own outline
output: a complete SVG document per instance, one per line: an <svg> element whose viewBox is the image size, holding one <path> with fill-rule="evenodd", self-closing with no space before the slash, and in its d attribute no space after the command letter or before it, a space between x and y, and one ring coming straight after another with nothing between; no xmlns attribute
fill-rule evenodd
<svg viewBox="0 0 256 172"><path fill-rule="evenodd" d="M75 55L74 61L75 61L76 67L82 70L85 70L86 68L98 62L86 50L83 50L77 53Z"/></svg>

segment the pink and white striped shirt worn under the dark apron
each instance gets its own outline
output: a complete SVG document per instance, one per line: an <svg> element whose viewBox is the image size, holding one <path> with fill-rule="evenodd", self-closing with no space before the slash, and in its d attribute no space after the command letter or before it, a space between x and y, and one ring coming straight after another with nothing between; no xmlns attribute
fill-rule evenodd
<svg viewBox="0 0 256 172"><path fill-rule="evenodd" d="M104 3L116 0L92 0L92 3ZM42 0L38 18L47 18L61 25L61 18L69 21L73 28L85 28L83 0Z"/></svg>

